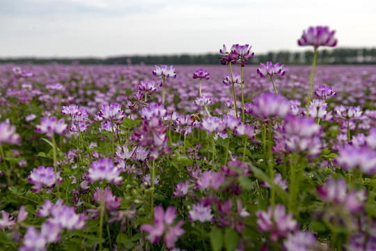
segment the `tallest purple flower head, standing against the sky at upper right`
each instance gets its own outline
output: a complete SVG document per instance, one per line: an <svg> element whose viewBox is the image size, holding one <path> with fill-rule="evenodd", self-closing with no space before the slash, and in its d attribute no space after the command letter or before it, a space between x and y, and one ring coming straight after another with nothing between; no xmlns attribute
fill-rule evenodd
<svg viewBox="0 0 376 251"><path fill-rule="evenodd" d="M334 47L337 45L337 40L334 38L336 31L329 31L328 26L311 26L308 31L303 31L301 38L298 40L298 45L313 45L315 50L321 46Z"/></svg>

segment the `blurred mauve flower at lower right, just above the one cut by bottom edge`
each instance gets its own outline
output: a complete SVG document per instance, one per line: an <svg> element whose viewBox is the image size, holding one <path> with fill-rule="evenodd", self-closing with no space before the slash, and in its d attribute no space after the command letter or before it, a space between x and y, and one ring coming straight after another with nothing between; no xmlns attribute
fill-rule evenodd
<svg viewBox="0 0 376 251"><path fill-rule="evenodd" d="M277 204L274 209L269 206L267 212L257 211L256 215L258 231L269 231L273 242L299 227L298 222L292 218L292 213L286 214L285 206L281 204Z"/></svg>

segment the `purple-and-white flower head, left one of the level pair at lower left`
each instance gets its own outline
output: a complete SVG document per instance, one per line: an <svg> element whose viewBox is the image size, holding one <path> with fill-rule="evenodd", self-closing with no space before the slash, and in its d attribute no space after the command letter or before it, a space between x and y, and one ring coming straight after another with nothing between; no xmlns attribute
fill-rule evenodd
<svg viewBox="0 0 376 251"><path fill-rule="evenodd" d="M63 182L63 178L60 176L60 171L56 173L56 177L58 183ZM33 171L30 172L28 180L30 183L34 184L34 192L40 190L43 185L47 185L47 187L51 188L56 184L54 168L44 166L40 166L38 169L34 168Z"/></svg>

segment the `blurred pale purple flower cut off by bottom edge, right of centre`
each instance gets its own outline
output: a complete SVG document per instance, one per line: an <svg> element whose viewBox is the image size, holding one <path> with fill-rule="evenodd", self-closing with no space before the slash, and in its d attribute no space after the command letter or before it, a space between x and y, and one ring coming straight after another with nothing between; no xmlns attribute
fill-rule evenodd
<svg viewBox="0 0 376 251"><path fill-rule="evenodd" d="M285 251L313 251L318 250L320 246L316 237L308 231L297 231L295 234L288 234L283 241L283 250Z"/></svg>

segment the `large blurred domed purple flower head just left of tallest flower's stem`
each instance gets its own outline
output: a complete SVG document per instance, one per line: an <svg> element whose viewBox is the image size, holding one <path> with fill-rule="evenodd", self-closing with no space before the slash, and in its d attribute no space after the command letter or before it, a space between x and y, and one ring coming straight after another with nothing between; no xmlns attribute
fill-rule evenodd
<svg viewBox="0 0 376 251"><path fill-rule="evenodd" d="M283 96L273 93L261 93L260 96L253 100L250 113L253 116L260 116L264 119L270 117L280 117L283 119L288 112L290 112L290 102Z"/></svg>

